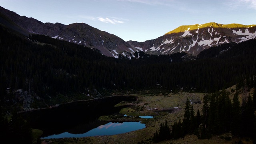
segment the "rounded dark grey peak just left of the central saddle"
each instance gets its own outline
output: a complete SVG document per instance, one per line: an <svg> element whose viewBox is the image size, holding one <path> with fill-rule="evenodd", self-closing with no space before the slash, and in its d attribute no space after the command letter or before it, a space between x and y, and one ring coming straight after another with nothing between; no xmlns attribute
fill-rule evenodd
<svg viewBox="0 0 256 144"><path fill-rule="evenodd" d="M118 57L119 53L132 52L130 46L121 38L84 23L69 24L58 35L52 37L97 48L106 56Z"/></svg>

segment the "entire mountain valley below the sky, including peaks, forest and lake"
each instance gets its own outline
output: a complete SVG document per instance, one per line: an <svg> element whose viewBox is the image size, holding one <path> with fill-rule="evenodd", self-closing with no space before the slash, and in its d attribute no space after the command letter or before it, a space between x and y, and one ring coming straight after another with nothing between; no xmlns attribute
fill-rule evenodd
<svg viewBox="0 0 256 144"><path fill-rule="evenodd" d="M125 42L0 7L1 144L251 144L255 110L256 25Z"/></svg>

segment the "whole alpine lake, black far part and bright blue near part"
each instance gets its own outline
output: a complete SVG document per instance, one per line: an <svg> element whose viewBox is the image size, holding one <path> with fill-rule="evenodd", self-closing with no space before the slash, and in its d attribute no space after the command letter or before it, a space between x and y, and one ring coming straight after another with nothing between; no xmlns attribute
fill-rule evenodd
<svg viewBox="0 0 256 144"><path fill-rule="evenodd" d="M126 118L126 114L119 112L129 105L118 107L115 105L123 101L135 100L135 96L112 96L62 104L55 108L24 112L21 115L30 122L32 128L43 131L42 139L115 135L146 127L140 121L99 120L100 116L109 115ZM140 118L153 117L140 116Z"/></svg>

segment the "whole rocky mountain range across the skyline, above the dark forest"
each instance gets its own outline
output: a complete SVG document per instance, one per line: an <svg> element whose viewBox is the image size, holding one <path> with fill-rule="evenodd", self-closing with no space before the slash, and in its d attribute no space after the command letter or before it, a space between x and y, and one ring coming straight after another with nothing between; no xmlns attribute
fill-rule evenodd
<svg viewBox="0 0 256 144"><path fill-rule="evenodd" d="M230 42L243 42L256 38L256 25L194 24L180 26L163 36L145 42L128 41L84 23L64 25L43 23L34 18L20 16L0 6L0 24L24 35L42 34L52 38L96 48L106 56L120 55L132 58L135 52L172 54L186 52L196 56L204 49Z"/></svg>

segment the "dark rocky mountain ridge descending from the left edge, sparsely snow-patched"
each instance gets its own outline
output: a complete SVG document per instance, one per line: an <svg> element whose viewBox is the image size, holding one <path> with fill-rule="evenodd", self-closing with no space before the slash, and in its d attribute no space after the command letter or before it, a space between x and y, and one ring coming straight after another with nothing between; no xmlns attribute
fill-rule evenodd
<svg viewBox="0 0 256 144"><path fill-rule="evenodd" d="M12 24L6 25L6 19L10 19ZM9 21L10 21L9 20ZM131 58L134 48L114 34L109 34L89 26L84 23L74 23L64 25L60 23L43 23L34 18L20 16L15 12L6 10L0 6L0 24L11 29L14 25L31 34L42 34L60 40L66 40L90 48L96 48L106 56L118 58L118 54L126 55ZM19 30L20 31L20 30Z"/></svg>

